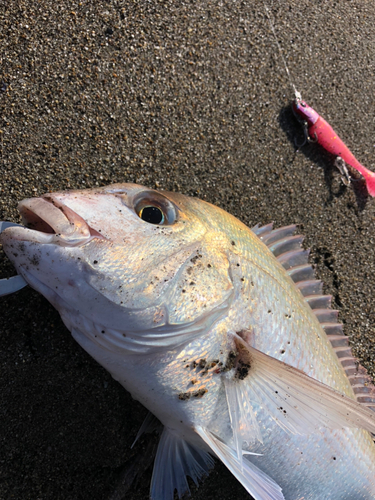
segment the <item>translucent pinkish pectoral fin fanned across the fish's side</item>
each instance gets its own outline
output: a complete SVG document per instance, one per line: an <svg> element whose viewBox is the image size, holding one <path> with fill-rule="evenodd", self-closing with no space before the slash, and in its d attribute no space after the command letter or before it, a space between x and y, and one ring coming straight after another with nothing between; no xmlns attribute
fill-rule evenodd
<svg viewBox="0 0 375 500"><path fill-rule="evenodd" d="M375 412L254 349L237 334L234 337L238 357L232 383L239 402L256 401L281 427L295 434L313 433L320 427L375 432Z"/></svg>

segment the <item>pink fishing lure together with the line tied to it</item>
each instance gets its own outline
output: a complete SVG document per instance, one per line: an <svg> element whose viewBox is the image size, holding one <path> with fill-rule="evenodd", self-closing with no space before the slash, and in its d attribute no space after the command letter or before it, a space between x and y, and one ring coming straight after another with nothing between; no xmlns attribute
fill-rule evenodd
<svg viewBox="0 0 375 500"><path fill-rule="evenodd" d="M347 169L347 165L357 170L365 179L367 191L370 196L375 196L375 173L364 167L357 158L353 155L346 144L340 139L338 134L333 130L331 125L324 120L311 106L309 106L298 92L293 84L290 76L289 68L283 56L280 44L277 40L275 29L272 24L271 15L266 5L264 5L266 15L271 27L271 31L275 37L277 47L280 52L281 59L284 63L286 74L288 75L289 82L294 90L294 100L292 103L292 110L295 117L302 123L305 141L299 147L302 147L306 142L316 142L320 144L326 151L336 157L335 166L340 170L344 177L345 184L349 184L352 180Z"/></svg>

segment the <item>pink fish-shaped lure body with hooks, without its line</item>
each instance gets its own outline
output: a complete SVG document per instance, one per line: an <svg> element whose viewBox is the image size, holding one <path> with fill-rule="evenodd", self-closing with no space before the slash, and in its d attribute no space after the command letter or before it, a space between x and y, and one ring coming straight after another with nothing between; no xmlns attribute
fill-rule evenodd
<svg viewBox="0 0 375 500"><path fill-rule="evenodd" d="M375 173L359 163L331 125L302 99L294 99L292 109L297 119L304 124L307 140L317 142L326 151L342 158L345 163L362 174L368 193L375 196Z"/></svg>

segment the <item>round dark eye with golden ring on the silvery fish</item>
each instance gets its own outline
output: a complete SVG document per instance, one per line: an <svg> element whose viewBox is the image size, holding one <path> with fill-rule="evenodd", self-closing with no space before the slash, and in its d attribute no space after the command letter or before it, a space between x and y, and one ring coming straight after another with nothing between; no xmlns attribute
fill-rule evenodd
<svg viewBox="0 0 375 500"><path fill-rule="evenodd" d="M133 201L135 213L140 219L156 226L169 226L177 220L178 209L161 193L143 191Z"/></svg>

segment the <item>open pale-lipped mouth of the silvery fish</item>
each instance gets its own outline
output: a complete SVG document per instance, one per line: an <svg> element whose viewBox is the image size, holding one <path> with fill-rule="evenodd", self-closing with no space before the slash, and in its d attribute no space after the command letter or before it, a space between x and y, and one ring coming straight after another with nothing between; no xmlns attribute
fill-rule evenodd
<svg viewBox="0 0 375 500"><path fill-rule="evenodd" d="M80 246L93 238L106 239L52 195L23 200L18 210L24 227L9 227L2 237L60 246Z"/></svg>

